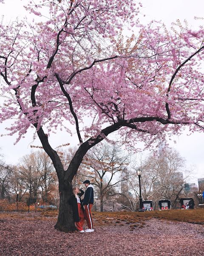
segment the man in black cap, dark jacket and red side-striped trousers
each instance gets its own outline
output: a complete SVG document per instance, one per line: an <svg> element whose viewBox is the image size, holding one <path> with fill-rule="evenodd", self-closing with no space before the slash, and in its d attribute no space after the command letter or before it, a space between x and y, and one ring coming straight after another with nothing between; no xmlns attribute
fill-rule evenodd
<svg viewBox="0 0 204 256"><path fill-rule="evenodd" d="M91 208L94 204L94 187L90 184L89 180L85 180L84 185L86 187L83 205L84 205L84 217L88 225L88 229L85 232L94 232L93 220L91 215Z"/></svg>

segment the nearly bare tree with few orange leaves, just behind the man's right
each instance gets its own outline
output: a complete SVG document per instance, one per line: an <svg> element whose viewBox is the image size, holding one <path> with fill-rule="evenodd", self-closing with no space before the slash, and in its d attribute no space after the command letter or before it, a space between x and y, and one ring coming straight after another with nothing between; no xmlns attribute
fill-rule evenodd
<svg viewBox="0 0 204 256"><path fill-rule="evenodd" d="M100 199L100 211L103 212L104 198L118 194L116 187L122 180L121 172L128 165L128 155L124 155L119 146L102 143L93 147L84 157L83 166L88 170L86 176L96 186L96 195Z"/></svg>

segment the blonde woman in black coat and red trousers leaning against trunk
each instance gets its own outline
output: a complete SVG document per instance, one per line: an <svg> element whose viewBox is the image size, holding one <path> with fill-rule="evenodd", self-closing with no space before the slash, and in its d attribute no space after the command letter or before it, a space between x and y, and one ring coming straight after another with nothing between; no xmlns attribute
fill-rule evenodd
<svg viewBox="0 0 204 256"><path fill-rule="evenodd" d="M72 206L72 212L75 224L77 226L77 229L79 232L83 233L83 225L84 225L84 207L82 205L81 196L84 194L84 191L82 189L79 189L77 187L74 187L72 190L73 195L71 195L71 198L69 199L69 204Z"/></svg>

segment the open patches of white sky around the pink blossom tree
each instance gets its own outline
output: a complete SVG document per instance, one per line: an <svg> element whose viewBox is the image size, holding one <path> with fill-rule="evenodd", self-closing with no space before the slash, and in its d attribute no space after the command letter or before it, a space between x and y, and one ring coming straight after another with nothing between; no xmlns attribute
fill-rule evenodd
<svg viewBox="0 0 204 256"><path fill-rule="evenodd" d="M0 15L4 15L4 21L10 21L15 17L25 16L26 12L23 9L23 4L28 0L5 0L4 5L0 4ZM143 23L148 23L150 20L161 20L167 27L177 19L184 21L186 19L192 29L198 29L199 25L203 25L203 20L194 20L194 17L202 17L204 10L204 1L202 0L141 0L143 7L141 9L140 20ZM145 17L143 16L145 15ZM9 125L0 125L0 134L5 134L4 128ZM7 163L17 163L20 157L29 154L31 151L30 145L40 145L39 140L33 142L34 129L30 129L25 139L20 140L17 145L14 145L15 138L3 136L0 137L0 154L4 154L4 159ZM204 177L204 133L194 133L187 136L185 132L180 137L174 137L176 144L170 143L173 148L187 160L187 168L193 166L194 174L191 182L197 183L197 178ZM53 147L58 145L78 143L77 137L68 137L65 133L59 132L50 136L50 143Z"/></svg>

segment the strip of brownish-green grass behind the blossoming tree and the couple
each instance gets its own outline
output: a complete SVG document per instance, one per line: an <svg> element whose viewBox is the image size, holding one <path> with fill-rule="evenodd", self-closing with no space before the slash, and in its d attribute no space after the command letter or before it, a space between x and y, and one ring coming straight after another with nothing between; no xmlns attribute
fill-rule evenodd
<svg viewBox="0 0 204 256"><path fill-rule="evenodd" d="M45 212L0 212L0 220L15 218L25 220L57 221L58 211ZM150 218L169 221L184 221L204 225L204 209L167 210L151 212L93 212L94 226L123 226L141 228Z"/></svg>

